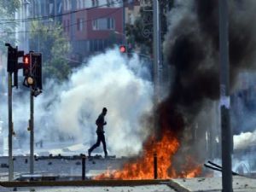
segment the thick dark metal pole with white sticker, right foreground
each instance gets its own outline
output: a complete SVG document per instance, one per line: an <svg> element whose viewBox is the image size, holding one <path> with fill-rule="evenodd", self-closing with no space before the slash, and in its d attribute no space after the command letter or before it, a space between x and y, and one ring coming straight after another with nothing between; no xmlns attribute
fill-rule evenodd
<svg viewBox="0 0 256 192"><path fill-rule="evenodd" d="M220 113L222 146L222 186L223 192L232 192L230 129L230 61L229 61L229 23L227 0L219 0L219 55L220 55Z"/></svg>

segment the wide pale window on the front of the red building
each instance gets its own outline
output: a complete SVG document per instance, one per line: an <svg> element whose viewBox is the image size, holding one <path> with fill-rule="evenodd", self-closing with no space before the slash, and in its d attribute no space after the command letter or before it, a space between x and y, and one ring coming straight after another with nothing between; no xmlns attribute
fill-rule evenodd
<svg viewBox="0 0 256 192"><path fill-rule="evenodd" d="M93 30L113 30L114 20L113 18L101 18L92 21Z"/></svg>

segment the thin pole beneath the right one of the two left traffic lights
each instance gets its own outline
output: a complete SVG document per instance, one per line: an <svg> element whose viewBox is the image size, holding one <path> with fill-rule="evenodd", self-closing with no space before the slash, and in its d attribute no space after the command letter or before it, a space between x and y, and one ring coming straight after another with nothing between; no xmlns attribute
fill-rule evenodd
<svg viewBox="0 0 256 192"><path fill-rule="evenodd" d="M34 96L30 88L30 174L34 173Z"/></svg>

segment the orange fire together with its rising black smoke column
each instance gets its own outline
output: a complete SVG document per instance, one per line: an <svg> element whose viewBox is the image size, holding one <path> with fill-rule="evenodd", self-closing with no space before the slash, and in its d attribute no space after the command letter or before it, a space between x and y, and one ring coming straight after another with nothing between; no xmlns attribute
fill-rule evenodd
<svg viewBox="0 0 256 192"><path fill-rule="evenodd" d="M248 24L253 23L256 16L253 11L256 3L253 0L229 3L230 86L234 90L237 74L255 68L256 38L253 34L256 26ZM201 140L205 139L212 116L208 114L202 119L200 114L219 98L218 1L177 0L169 19L164 55L175 75L169 96L156 110L160 140L148 137L143 155L135 162L97 179L152 178L154 152L159 160L160 178L196 177L201 173L201 165L207 157L206 144ZM204 124L198 125L197 121ZM195 125L197 135L193 137Z"/></svg>

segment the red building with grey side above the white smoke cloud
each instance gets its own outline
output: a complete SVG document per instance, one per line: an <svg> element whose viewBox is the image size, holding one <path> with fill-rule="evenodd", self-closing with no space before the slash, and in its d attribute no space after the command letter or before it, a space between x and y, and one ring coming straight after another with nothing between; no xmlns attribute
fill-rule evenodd
<svg viewBox="0 0 256 192"><path fill-rule="evenodd" d="M124 9L101 4L90 7L70 1L63 6L62 23L73 47L73 59L82 61L91 54L102 52L124 37ZM70 14L69 14L70 13Z"/></svg>

